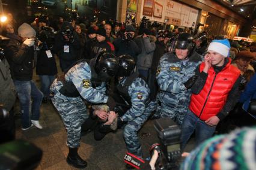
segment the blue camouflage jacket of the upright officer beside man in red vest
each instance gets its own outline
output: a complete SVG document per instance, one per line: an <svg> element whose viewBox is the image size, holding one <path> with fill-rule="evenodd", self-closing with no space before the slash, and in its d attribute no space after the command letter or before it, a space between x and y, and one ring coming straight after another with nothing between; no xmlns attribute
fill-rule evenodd
<svg viewBox="0 0 256 170"><path fill-rule="evenodd" d="M191 90L184 83L195 75L195 69L201 63L201 57L194 52L186 65L175 53L164 54L157 66L156 79L160 88L159 101L175 108L185 108L189 105Z"/></svg>

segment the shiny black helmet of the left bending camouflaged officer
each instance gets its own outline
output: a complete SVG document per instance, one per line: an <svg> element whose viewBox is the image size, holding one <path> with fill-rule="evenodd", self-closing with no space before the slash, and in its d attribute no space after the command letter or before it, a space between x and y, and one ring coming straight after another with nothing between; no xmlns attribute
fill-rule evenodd
<svg viewBox="0 0 256 170"><path fill-rule="evenodd" d="M96 57L95 71L99 78L108 80L114 77L118 70L118 59L112 53L101 52Z"/></svg>

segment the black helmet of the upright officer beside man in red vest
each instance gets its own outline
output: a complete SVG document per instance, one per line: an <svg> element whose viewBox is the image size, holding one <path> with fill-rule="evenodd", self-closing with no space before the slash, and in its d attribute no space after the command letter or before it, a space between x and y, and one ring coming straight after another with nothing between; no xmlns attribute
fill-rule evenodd
<svg viewBox="0 0 256 170"><path fill-rule="evenodd" d="M178 37L175 41L174 48L182 49L182 50L185 50L185 49L189 50L187 53L187 56L189 56L195 48L194 38L189 33L181 33L178 35Z"/></svg>

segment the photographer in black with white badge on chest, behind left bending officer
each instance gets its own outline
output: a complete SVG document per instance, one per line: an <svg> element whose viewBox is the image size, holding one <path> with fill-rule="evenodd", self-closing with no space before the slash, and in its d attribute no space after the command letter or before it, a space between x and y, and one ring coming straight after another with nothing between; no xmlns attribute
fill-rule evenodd
<svg viewBox="0 0 256 170"><path fill-rule="evenodd" d="M79 59L81 49L78 34L68 22L62 24L55 37L54 51L59 57L59 66L63 72Z"/></svg>

